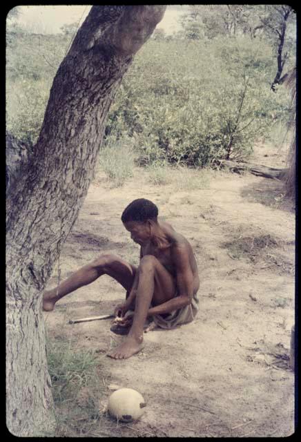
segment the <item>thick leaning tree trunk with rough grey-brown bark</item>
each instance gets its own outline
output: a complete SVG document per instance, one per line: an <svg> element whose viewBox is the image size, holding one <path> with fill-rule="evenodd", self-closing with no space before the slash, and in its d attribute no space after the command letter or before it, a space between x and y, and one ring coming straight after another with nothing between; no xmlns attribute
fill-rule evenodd
<svg viewBox="0 0 301 442"><path fill-rule="evenodd" d="M166 6L93 6L50 90L39 139L6 200L6 422L54 428L41 292L84 202L117 87Z"/></svg>

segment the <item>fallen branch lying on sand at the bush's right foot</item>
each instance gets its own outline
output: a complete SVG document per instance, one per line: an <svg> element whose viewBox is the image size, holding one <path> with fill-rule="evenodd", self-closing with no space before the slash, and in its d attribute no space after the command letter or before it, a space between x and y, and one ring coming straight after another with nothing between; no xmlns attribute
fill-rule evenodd
<svg viewBox="0 0 301 442"><path fill-rule="evenodd" d="M273 167L262 166L262 164L235 162L231 160L215 160L215 165L220 168L230 169L235 173L248 171L253 175L271 178L273 180L282 180L287 173L287 169L275 169Z"/></svg>

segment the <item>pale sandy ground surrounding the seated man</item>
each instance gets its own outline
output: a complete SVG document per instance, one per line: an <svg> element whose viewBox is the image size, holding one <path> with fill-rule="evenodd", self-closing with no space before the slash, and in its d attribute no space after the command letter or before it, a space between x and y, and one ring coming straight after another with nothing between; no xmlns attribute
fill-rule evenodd
<svg viewBox="0 0 301 442"><path fill-rule="evenodd" d="M268 156L266 156L268 155ZM258 146L254 161L284 167L284 153ZM196 177L197 171L191 171ZM70 318L111 313L124 289L108 276L78 289L44 313L52 338L95 351L100 405L110 384L144 396L142 419L122 424L100 414L92 436L288 436L294 431L294 374L289 369L294 318L295 213L280 182L249 173L208 172L200 189L153 186L144 171L119 189L104 178L90 186L61 252L61 279L104 252L137 265L120 215L148 198L191 241L200 269L200 312L193 323L144 334L142 352L106 356L124 338L110 320L68 325ZM54 271L48 288L57 285ZM69 404L72 407L72 404ZM80 423L77 434L82 434Z"/></svg>

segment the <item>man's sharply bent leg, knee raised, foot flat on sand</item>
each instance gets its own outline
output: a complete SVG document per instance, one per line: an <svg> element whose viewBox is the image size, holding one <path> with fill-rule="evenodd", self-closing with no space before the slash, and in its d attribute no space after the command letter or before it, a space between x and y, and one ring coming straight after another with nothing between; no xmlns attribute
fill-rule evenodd
<svg viewBox="0 0 301 442"><path fill-rule="evenodd" d="M139 352L143 347L143 327L150 302L159 305L175 296L175 280L155 256L144 256L137 271L139 271L139 284L133 325L124 343L108 354L111 358L129 358Z"/></svg>

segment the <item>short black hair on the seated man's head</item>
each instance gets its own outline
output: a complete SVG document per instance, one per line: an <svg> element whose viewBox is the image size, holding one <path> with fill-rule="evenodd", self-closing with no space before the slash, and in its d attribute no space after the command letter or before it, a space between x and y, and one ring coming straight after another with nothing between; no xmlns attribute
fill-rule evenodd
<svg viewBox="0 0 301 442"><path fill-rule="evenodd" d="M122 213L122 222L146 222L146 220L157 219L157 216L158 208L153 202L145 198L138 198L126 206Z"/></svg>

